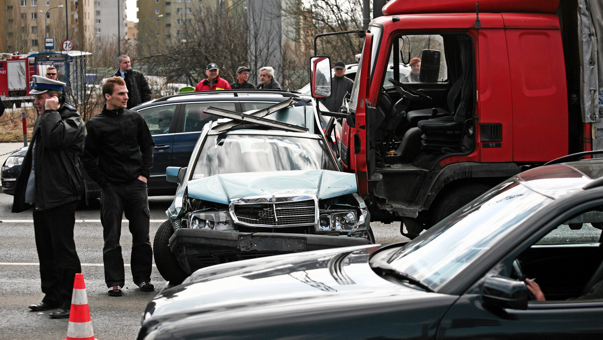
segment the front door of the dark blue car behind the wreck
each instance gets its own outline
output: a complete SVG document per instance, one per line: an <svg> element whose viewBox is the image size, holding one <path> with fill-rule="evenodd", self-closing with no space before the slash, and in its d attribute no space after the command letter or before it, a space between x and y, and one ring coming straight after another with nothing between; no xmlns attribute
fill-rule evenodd
<svg viewBox="0 0 603 340"><path fill-rule="evenodd" d="M172 163L177 108L178 104L167 104L138 111L147 122L155 142L153 167L148 181L151 195L175 193L176 185L165 180L165 169Z"/></svg>

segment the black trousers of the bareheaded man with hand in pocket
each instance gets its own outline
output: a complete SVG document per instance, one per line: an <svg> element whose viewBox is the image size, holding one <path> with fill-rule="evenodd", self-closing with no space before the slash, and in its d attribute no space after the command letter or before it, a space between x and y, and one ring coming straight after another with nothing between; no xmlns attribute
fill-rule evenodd
<svg viewBox="0 0 603 340"><path fill-rule="evenodd" d="M130 184L108 184L101 190L101 223L103 223L103 262L107 287L125 284L124 258L121 254L121 217L130 221L132 254L130 266L135 284L151 281L153 249L149 239L147 184L135 179Z"/></svg>

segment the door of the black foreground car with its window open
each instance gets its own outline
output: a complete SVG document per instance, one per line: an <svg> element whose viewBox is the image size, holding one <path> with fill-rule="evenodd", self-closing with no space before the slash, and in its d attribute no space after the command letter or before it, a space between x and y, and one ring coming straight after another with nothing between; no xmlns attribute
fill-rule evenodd
<svg viewBox="0 0 603 340"><path fill-rule="evenodd" d="M601 222L603 205L598 202L553 225L537 242L519 249L519 255L511 254L519 259L520 272L538 283L546 301L530 300L526 309L488 305L478 283L446 313L438 339L603 338L603 299L585 295L593 292L589 281L601 279ZM504 268L508 258L494 268ZM500 269L499 276L516 279L516 271Z"/></svg>

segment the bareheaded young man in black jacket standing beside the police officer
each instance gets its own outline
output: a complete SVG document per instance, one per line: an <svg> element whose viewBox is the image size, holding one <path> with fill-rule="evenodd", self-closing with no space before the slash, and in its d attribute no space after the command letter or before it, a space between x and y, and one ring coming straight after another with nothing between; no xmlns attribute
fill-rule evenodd
<svg viewBox="0 0 603 340"><path fill-rule="evenodd" d="M103 262L109 295L118 297L125 284L121 254L121 217L130 221L131 272L144 292L154 290L151 281L153 251L149 239L147 180L153 167L153 137L142 116L126 109L128 89L121 77L103 84L103 112L86 123L84 168L101 186Z"/></svg>

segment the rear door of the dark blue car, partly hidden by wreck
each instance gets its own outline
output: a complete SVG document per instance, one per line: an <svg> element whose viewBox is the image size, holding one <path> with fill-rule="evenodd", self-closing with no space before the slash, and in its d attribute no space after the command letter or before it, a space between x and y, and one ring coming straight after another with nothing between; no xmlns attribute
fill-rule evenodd
<svg viewBox="0 0 603 340"><path fill-rule="evenodd" d="M236 111L234 101L204 101L197 103L184 103L177 129L180 133L174 136L174 149L172 151L172 167L186 167L191 159L192 150L199 139L203 126L209 121L219 117L207 115L203 111L213 106L220 109ZM165 171L165 169L163 169ZM175 192L175 190L174 190Z"/></svg>

